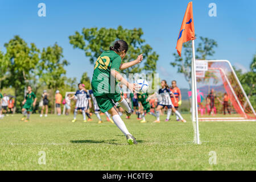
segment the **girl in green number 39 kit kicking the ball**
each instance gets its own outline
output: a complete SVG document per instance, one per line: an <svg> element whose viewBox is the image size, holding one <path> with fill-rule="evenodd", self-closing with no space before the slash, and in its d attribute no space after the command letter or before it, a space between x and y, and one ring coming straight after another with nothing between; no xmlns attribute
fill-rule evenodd
<svg viewBox="0 0 256 182"><path fill-rule="evenodd" d="M136 89L135 84L125 80L119 71L141 63L143 56L139 55L136 60L121 64L127 51L128 44L123 40L117 40L114 46L110 47L110 51L101 53L94 65L92 90L102 113L108 111L112 115L115 125L126 136L127 142L129 144L137 144L137 141L127 130L115 107L115 103L118 102L126 114L131 115L131 102L121 96L117 80L134 92Z"/></svg>

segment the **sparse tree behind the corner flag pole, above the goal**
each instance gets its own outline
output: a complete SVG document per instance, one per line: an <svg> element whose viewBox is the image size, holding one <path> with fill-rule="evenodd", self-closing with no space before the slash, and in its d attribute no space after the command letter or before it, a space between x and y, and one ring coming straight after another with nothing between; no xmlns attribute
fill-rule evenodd
<svg viewBox="0 0 256 182"><path fill-rule="evenodd" d="M217 42L215 40L200 36L200 39L195 42L198 42L195 51L196 59L205 60L208 59L208 56L214 55L214 48L217 47ZM176 52L173 55L175 59L174 61L171 61L172 67L176 67L178 73L183 73L185 80L187 80L189 88L191 89L191 41L183 43L181 57Z"/></svg>

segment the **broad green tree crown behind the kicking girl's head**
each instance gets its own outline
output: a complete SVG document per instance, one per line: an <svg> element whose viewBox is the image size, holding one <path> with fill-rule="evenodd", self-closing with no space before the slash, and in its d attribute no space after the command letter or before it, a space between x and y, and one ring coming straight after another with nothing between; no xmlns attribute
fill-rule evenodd
<svg viewBox="0 0 256 182"><path fill-rule="evenodd" d="M135 60L138 55L143 53L144 64L134 65L123 70L123 73L140 73L142 70L155 72L159 55L153 51L149 44L145 44L142 35L141 28L134 28L133 30L124 29L122 26L117 29L82 28L81 34L76 31L74 35L69 36L69 43L73 45L73 48L82 49L85 56L90 58L90 63L93 64L103 51L109 50L115 40L125 40L129 44L129 51L123 62Z"/></svg>

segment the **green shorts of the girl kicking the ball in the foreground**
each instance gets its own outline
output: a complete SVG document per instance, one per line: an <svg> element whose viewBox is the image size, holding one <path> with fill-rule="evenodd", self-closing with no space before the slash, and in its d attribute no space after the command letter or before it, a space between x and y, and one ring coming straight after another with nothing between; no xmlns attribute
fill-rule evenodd
<svg viewBox="0 0 256 182"><path fill-rule="evenodd" d="M96 96L96 101L98 104L98 107L100 107L100 110L102 113L105 113L109 109L111 109L116 102L121 100L121 94L120 93L107 93L104 96Z"/></svg>

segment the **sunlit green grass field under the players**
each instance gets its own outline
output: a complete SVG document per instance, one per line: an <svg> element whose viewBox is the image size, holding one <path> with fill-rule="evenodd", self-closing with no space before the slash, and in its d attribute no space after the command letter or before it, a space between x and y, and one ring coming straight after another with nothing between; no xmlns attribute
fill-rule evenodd
<svg viewBox="0 0 256 182"><path fill-rule="evenodd" d="M255 122L200 122L201 144L193 144L190 115L187 123L139 123L135 115L123 119L138 145L129 146L118 128L109 122L84 123L79 115L22 115L0 120L0 170L255 170ZM105 116L101 116L105 120ZM165 116L162 116L162 121ZM123 116L123 118L125 118ZM39 151L46 164L39 164ZM209 152L217 164L209 164Z"/></svg>

